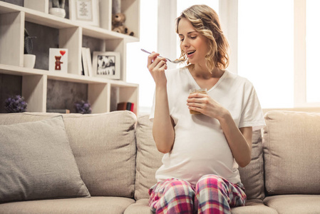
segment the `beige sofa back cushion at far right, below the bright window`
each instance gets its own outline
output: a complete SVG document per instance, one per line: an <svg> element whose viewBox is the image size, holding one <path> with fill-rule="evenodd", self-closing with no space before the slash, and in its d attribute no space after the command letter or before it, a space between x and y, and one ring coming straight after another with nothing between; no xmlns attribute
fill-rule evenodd
<svg viewBox="0 0 320 214"><path fill-rule="evenodd" d="M265 115L267 193L320 193L320 113L269 111Z"/></svg>

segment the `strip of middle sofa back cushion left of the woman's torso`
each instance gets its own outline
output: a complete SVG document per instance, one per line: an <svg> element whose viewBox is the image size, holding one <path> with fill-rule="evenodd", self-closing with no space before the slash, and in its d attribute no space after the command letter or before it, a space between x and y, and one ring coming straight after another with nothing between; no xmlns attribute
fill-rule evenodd
<svg viewBox="0 0 320 214"><path fill-rule="evenodd" d="M157 180L155 171L162 165L162 153L153 140L153 123L149 115L140 116L137 123L137 169L135 175L135 200L149 198L148 190Z"/></svg>

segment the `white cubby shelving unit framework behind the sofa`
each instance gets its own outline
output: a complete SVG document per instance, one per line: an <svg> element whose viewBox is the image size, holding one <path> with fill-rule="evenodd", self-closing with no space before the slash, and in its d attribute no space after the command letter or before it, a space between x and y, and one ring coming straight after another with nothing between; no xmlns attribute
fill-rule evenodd
<svg viewBox="0 0 320 214"><path fill-rule="evenodd" d="M48 14L48 0L25 0L25 7L0 1L0 73L22 76L22 96L28 102L28 111L46 112L48 80L58 80L87 84L88 101L93 113L115 111L116 104L120 102L134 103L133 112L138 113L139 87L138 84L126 82L126 72L130 72L130 68L126 67L125 62L126 44L139 41L140 1L123 0L121 4L122 12L127 16L125 25L135 32L135 36L111 31L112 0L100 1L100 9L103 9L100 11L101 27L79 24ZM58 46L68 49L68 73L23 67L26 21L58 29ZM120 53L119 81L78 75L81 69L83 36L100 41L100 49L91 51Z"/></svg>

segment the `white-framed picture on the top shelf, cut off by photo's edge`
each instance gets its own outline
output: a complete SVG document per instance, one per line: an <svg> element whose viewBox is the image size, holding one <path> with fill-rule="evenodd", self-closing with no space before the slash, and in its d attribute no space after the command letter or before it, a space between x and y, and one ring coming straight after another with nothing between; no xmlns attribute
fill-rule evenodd
<svg viewBox="0 0 320 214"><path fill-rule="evenodd" d="M69 0L69 16L73 21L99 26L98 0Z"/></svg>

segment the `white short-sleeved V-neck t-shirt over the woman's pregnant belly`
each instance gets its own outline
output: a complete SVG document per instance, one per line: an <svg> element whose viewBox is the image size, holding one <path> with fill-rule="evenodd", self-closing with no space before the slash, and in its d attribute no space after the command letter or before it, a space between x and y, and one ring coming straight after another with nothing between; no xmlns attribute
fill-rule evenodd
<svg viewBox="0 0 320 214"><path fill-rule="evenodd" d="M180 178L192 185L202 175L215 174L239 183L238 165L224 136L219 121L205 115L191 115L187 108L190 88L200 88L187 67L165 71L170 116L175 121L175 143L162 158L155 173L159 181ZM231 113L238 128L252 126L253 131L265 126L257 93L246 78L224 71L220 80L207 93ZM150 113L153 121L155 98Z"/></svg>

